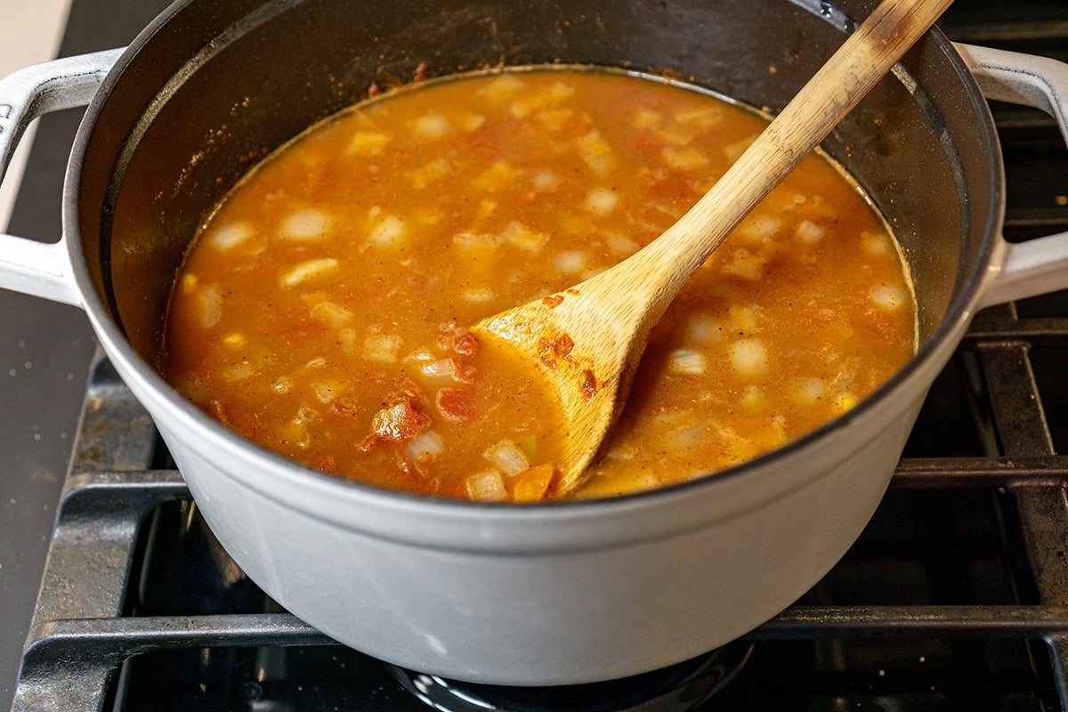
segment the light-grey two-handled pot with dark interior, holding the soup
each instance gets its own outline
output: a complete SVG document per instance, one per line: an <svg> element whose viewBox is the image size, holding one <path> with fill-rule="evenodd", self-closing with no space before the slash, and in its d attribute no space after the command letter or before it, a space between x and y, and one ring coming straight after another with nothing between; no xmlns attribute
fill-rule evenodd
<svg viewBox="0 0 1068 712"><path fill-rule="evenodd" d="M565 4L565 3L561 3ZM855 540L934 377L976 311L1068 286L1068 235L1001 237L1004 186L983 91L1066 129L1068 68L933 31L824 143L893 224L921 344L819 430L700 480L535 506L382 491L225 429L158 373L170 282L249 165L379 86L487 65L666 72L771 110L865 0L351 3L180 0L125 50L0 83L0 156L46 111L89 102L58 243L0 237L0 286L84 310L151 413L207 523L273 599L337 640L460 680L582 683L666 666L745 634Z"/></svg>

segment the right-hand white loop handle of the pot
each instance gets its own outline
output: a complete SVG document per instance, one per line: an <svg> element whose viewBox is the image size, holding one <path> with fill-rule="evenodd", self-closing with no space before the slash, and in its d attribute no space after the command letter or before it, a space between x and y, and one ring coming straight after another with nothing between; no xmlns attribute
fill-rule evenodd
<svg viewBox="0 0 1068 712"><path fill-rule="evenodd" d="M989 47L956 45L988 99L1041 109L1068 142L1068 64ZM1001 240L978 307L1068 288L1068 233L1026 242Z"/></svg>

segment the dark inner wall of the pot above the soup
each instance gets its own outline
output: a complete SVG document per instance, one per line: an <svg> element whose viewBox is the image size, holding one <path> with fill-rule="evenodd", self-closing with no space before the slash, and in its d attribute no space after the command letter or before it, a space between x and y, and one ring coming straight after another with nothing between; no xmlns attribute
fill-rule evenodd
<svg viewBox="0 0 1068 712"><path fill-rule="evenodd" d="M528 63L630 67L781 109L869 2L191 0L135 43L85 141L78 228L100 301L158 363L171 280L211 206L256 161L378 86ZM924 41L824 143L894 227L927 341L975 289L998 228L981 96ZM425 63L425 64L424 64ZM965 268L965 265L973 266ZM961 306L954 306L959 304Z"/></svg>

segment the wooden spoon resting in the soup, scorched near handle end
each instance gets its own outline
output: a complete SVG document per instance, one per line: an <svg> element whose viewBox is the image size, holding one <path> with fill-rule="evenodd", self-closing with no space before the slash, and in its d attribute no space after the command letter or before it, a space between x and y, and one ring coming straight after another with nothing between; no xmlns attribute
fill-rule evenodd
<svg viewBox="0 0 1068 712"><path fill-rule="evenodd" d="M656 240L569 289L480 321L559 390L568 428L557 494L585 479L623 410L649 331L742 218L890 70L953 0L884 0L737 162Z"/></svg>

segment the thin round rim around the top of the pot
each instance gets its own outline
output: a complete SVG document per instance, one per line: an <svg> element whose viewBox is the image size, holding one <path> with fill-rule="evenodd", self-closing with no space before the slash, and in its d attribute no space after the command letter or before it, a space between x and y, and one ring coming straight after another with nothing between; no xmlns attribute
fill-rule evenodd
<svg viewBox="0 0 1068 712"><path fill-rule="evenodd" d="M799 0L789 1L820 16L822 16L820 5L826 4L816 3L816 6L810 7L808 5L812 3ZM148 363L138 355L116 321L108 316L107 305L100 300L93 285L85 255L81 249L81 241L78 239L78 195L81 188L81 171L89 148L89 139L97 120L109 100L111 91L123 74L136 66L140 49L191 2L193 0L176 2L146 26L122 53L93 96L78 129L67 165L63 194L63 231L67 237L66 242L74 278L82 296L83 308L105 351L115 362L116 369L124 380L129 381L131 387L140 394L142 401L152 401L152 405L157 407L159 412L173 416L174 422L184 428L185 432L192 433L200 442L204 443L205 447L216 446L221 447L223 452L239 453L247 464L260 465L256 468L258 472L248 475L231 472L227 473L227 476L239 479L245 486L285 506L297 505L272 492L271 479L273 478L280 478L281 481L290 487L317 490L324 496L341 499L350 505L382 507L398 512L407 511L414 516L437 516L449 519L490 516L493 521L504 525L509 522L561 521L576 517L585 518L591 515L627 513L629 516L647 508L671 506L678 500L716 490L725 482L734 482L744 478L754 471L766 468L769 463L786 459L790 455L806 449L832 436L846 433L858 421L862 421L868 417L873 411L885 407L886 401L893 397L895 392L905 390L908 383L916 382L916 379L921 378L920 371L934 368L934 364L939 368L941 367L956 347L959 335L967 328L981 297L984 275L1000 238L1004 216L1005 187L1001 148L993 118L983 93L953 44L938 28L932 28L927 34L927 39L931 43L930 47L938 50L938 59L944 61L947 68L952 68L963 84L971 105L967 107L967 110L976 121L976 128L980 131L988 148L985 162L989 185L993 189L992 195L987 205L985 224L981 227L984 235L980 250L976 259L958 275L953 298L946 306L941 322L905 366L853 409L753 460L685 482L603 499L561 500L537 504L477 503L378 488L314 470L247 440L209 417L174 391ZM828 18L824 17L824 19ZM828 19L828 21L831 20ZM841 25L838 29L842 30ZM913 90L912 93L915 94L917 91ZM968 225L965 222L964 230L979 230L979 227ZM154 415L157 412L155 408L150 408L150 410L153 411ZM257 479L261 481L257 482ZM795 481L794 485L802 486L803 482ZM319 517L315 511L308 513ZM346 521L344 524L360 528L358 522Z"/></svg>

